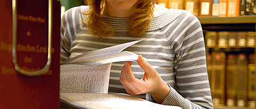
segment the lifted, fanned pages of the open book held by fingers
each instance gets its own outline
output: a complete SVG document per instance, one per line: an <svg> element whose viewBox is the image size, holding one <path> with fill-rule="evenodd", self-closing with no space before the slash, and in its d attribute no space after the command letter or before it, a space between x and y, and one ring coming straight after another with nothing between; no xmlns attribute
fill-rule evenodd
<svg viewBox="0 0 256 109"><path fill-rule="evenodd" d="M106 63L120 62L120 61L136 61L138 55L132 52L121 53L125 48L138 43L141 40L131 41L129 43L119 44L107 48L97 49L95 51L86 52L78 55L70 60L61 62L61 64L85 64L85 65L100 65ZM116 60L122 58L122 60Z"/></svg>

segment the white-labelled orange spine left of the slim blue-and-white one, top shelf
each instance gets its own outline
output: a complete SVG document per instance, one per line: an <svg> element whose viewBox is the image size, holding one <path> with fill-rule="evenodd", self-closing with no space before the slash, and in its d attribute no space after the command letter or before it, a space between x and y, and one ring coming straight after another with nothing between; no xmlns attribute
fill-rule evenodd
<svg viewBox="0 0 256 109"><path fill-rule="evenodd" d="M212 1L201 0L199 16L211 16L212 15Z"/></svg>

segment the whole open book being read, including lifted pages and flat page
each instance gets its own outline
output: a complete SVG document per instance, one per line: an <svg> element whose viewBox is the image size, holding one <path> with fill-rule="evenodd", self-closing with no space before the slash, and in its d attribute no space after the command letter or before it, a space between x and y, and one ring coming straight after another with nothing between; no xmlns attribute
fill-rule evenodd
<svg viewBox="0 0 256 109"><path fill-rule="evenodd" d="M170 108L127 94L107 94L111 63L137 61L137 54L122 51L139 41L98 49L62 62L61 108Z"/></svg>

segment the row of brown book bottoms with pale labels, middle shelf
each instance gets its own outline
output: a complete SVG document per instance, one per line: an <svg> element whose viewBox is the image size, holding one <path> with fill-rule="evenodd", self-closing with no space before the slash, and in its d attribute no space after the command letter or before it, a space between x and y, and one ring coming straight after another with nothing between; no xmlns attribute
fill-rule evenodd
<svg viewBox="0 0 256 109"><path fill-rule="evenodd" d="M255 48L256 32L207 31L205 43L208 48Z"/></svg>

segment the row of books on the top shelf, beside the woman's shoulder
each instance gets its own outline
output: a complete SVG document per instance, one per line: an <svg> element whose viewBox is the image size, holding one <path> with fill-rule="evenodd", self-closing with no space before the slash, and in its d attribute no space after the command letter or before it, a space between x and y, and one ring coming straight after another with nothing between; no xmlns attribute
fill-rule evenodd
<svg viewBox="0 0 256 109"><path fill-rule="evenodd" d="M169 9L188 10L196 16L255 15L255 0L158 0Z"/></svg>

